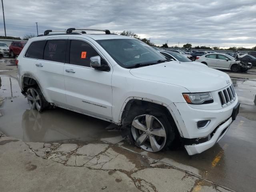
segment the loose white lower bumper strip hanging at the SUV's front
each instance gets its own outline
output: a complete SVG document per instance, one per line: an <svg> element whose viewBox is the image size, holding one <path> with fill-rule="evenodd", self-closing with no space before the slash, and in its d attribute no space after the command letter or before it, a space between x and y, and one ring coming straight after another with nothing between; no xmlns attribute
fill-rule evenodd
<svg viewBox="0 0 256 192"><path fill-rule="evenodd" d="M218 126L216 130L214 130L215 132L212 132L206 138L202 138L202 139L208 140L206 142L203 142L200 144L185 145L185 148L188 154L189 155L198 154L214 146L214 144L216 144L226 134L232 122L233 122L232 117L230 117L228 120L226 120L226 122Z"/></svg>

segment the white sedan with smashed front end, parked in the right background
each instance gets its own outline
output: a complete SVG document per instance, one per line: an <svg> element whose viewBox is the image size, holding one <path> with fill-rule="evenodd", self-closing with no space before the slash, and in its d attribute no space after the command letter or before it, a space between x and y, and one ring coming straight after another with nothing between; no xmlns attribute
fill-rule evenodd
<svg viewBox="0 0 256 192"><path fill-rule="evenodd" d="M210 68L231 70L233 72L238 72L240 70L245 71L250 68L250 66L242 65L242 63L235 60L234 57L221 53L211 53L197 56L196 61L206 64Z"/></svg>

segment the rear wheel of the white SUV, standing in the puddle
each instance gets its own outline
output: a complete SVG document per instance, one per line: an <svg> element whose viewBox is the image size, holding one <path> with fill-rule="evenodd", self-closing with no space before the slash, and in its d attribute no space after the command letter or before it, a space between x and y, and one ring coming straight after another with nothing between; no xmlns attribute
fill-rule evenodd
<svg viewBox="0 0 256 192"><path fill-rule="evenodd" d="M26 90L28 104L30 105L31 109L36 109L38 112L42 112L44 109L49 108L49 103L44 98L39 87L29 87Z"/></svg>

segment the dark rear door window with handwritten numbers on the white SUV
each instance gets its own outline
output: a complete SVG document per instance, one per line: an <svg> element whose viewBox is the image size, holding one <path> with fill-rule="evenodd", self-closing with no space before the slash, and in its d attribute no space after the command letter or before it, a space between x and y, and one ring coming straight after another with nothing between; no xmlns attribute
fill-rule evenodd
<svg viewBox="0 0 256 192"><path fill-rule="evenodd" d="M67 40L48 40L44 48L44 60L65 62Z"/></svg>

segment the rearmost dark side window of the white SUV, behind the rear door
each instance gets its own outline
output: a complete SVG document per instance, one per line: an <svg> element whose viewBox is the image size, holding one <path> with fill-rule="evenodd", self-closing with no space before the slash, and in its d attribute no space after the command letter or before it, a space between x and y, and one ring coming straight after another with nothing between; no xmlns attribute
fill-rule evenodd
<svg viewBox="0 0 256 192"><path fill-rule="evenodd" d="M45 41L32 42L25 54L25 57L43 59Z"/></svg>

